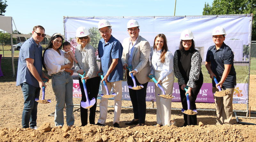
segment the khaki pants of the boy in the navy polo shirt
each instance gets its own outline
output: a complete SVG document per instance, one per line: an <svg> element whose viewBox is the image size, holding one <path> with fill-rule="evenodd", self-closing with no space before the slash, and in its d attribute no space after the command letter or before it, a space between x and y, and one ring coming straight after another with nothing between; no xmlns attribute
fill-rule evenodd
<svg viewBox="0 0 256 142"><path fill-rule="evenodd" d="M214 96L216 114L217 114L216 124L231 124L230 121L233 113L232 101L233 101L234 88L227 88L223 90L229 90L230 93L224 97ZM216 91L219 91L219 90L216 87L212 87L212 92L215 93Z"/></svg>

